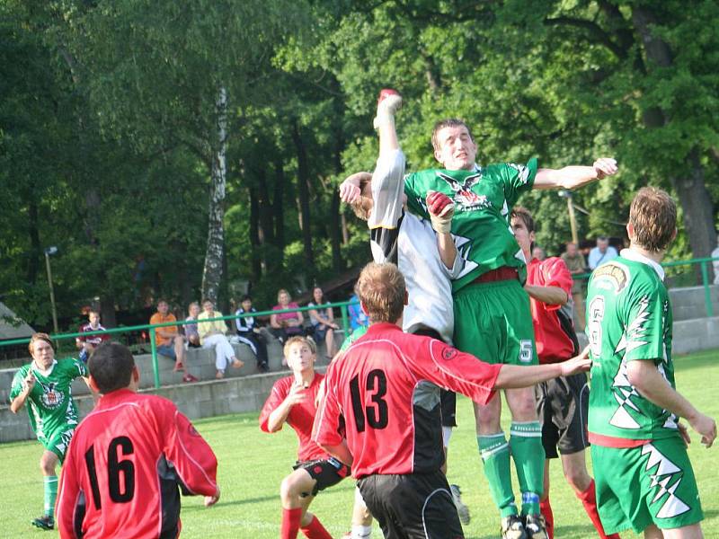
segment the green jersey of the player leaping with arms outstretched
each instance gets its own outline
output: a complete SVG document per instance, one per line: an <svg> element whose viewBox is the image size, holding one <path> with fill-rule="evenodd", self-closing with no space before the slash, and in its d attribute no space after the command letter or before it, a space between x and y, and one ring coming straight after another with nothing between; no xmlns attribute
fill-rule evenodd
<svg viewBox="0 0 719 539"><path fill-rule="evenodd" d="M414 214L430 218L427 191L445 193L455 203L452 234L465 268L452 282L452 289L468 285L475 278L502 266L517 268L527 278L524 255L510 226L510 210L519 196L532 188L537 159L526 165L490 164L474 171L430 169L414 172L404 179L407 206Z"/></svg>

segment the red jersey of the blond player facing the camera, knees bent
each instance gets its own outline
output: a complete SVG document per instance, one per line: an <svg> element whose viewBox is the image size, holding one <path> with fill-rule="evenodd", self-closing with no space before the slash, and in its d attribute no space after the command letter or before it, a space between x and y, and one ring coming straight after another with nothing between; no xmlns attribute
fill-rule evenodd
<svg viewBox="0 0 719 539"><path fill-rule="evenodd" d="M315 414L317 413L315 400L323 378L324 375L315 373L315 379L312 380L312 384L309 384L309 387L304 390L306 399L302 402L297 402L297 404L289 410L287 416L288 425L292 427L292 429L295 429L299 440L297 460L300 462L321 460L329 457L324 449L317 446L311 439L312 424L315 421ZM262 411L260 412L260 429L262 429L262 431L270 432L270 429L267 427L270 414L287 398L289 390L294 383L295 376L287 376L280 378L280 380L272 386L270 396L267 397L267 401L265 401L264 406L262 406Z"/></svg>

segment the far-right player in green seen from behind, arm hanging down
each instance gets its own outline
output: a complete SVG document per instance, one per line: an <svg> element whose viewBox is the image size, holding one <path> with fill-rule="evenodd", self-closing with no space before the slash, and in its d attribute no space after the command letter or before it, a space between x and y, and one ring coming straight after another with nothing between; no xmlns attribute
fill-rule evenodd
<svg viewBox="0 0 719 539"><path fill-rule="evenodd" d="M597 505L608 534L699 539L697 482L687 428L711 446L716 423L675 389L672 315L659 263L677 234L677 208L663 190L636 194L630 246L592 273L587 296L591 392L589 437Z"/></svg>

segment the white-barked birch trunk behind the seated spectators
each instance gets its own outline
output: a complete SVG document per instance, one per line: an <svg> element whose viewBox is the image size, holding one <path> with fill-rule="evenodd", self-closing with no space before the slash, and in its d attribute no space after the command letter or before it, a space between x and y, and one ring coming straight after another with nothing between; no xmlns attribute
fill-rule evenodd
<svg viewBox="0 0 719 539"><path fill-rule="evenodd" d="M227 91L221 86L215 102L217 112L216 144L211 145L209 186L208 246L205 269L202 271L202 297L217 304L219 283L222 279L222 252L225 248L225 190L227 181Z"/></svg>

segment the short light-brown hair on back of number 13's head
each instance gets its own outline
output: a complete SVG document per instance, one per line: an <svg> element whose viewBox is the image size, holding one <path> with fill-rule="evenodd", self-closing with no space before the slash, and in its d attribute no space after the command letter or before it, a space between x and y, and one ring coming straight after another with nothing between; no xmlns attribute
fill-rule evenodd
<svg viewBox="0 0 719 539"><path fill-rule="evenodd" d="M372 323L395 323L404 311L404 276L390 262L368 263L359 274L357 295Z"/></svg>

